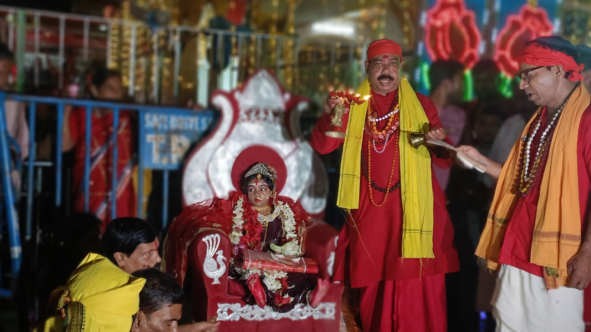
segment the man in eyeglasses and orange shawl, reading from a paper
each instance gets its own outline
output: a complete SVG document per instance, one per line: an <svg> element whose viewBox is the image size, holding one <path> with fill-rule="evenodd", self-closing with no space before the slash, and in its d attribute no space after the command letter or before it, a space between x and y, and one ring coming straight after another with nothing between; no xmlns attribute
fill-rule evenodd
<svg viewBox="0 0 591 332"><path fill-rule="evenodd" d="M579 52L557 36L525 45L519 88L540 106L505 165L460 147L498 178L476 255L499 271L498 331L583 331L591 282L591 98Z"/></svg>

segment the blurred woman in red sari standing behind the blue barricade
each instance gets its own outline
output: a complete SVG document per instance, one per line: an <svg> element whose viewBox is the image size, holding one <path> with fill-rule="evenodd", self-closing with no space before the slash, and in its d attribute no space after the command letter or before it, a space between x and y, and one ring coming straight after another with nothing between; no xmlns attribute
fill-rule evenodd
<svg viewBox="0 0 591 332"><path fill-rule="evenodd" d="M90 84L92 99L119 102L124 97L121 74L98 69ZM86 109L66 107L64 110L63 151L74 149L73 197L74 210L84 210L84 167L86 151ZM89 212L102 221L102 232L111 220L111 168L113 155L113 110L93 108L90 121L90 198ZM134 152L131 114L119 112L117 136L117 201L116 217L135 216L137 199L132 182Z"/></svg>

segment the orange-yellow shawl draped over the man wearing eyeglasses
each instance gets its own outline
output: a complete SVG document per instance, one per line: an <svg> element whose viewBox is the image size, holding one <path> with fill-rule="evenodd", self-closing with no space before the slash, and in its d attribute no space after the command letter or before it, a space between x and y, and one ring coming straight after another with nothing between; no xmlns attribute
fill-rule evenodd
<svg viewBox="0 0 591 332"><path fill-rule="evenodd" d="M577 138L581 116L590 100L589 93L581 86L576 87L570 96L554 129L540 183L530 262L545 267L544 279L548 289L565 284L566 264L581 243ZM522 137L538 112L525 127ZM517 141L502 168L491 211L476 249L476 255L487 259L491 269L499 267L499 250L517 201L516 179L521 147L521 141Z"/></svg>

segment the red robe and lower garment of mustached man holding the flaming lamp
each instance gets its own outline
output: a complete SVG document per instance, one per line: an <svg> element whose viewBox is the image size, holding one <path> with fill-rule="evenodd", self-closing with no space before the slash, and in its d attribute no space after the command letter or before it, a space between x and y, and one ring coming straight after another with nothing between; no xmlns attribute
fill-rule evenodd
<svg viewBox="0 0 591 332"><path fill-rule="evenodd" d="M388 96L374 94L375 111L378 116L384 116L389 112L396 93L389 93ZM441 127L437 108L433 102L420 93L417 93L417 97L421 105L423 105L431 128ZM343 127L345 128L348 119L349 113L346 113L343 116ZM384 126L385 121L387 120L379 122L379 126ZM334 151L344 141L344 139L326 136L324 132L328 131L329 128L330 115L325 113L314 127L310 142L311 147L320 154ZM446 141L451 144L449 138L446 138ZM381 149L381 147L378 148ZM371 153L372 180L379 187L387 187L392 160L395 155L397 158L395 159L391 185L400 181L400 158L398 158L400 154L398 149L397 142L391 142L383 153L377 153L373 148L369 152ZM365 156L368 154L367 135L363 135L362 154ZM453 160L436 158L434 155L432 155L432 160L440 167L449 167L453 162ZM433 325L428 322L425 323L430 319L427 317L428 315L431 315L431 318L435 316L434 320L440 326L445 326L445 285L444 282L441 282L443 280L441 274L458 271L459 262L457 252L452 246L453 226L446 210L445 196L433 174L433 168L431 168L434 216L433 253L435 256L433 259L407 258L403 260L401 258L402 200L400 190L397 189L389 193L384 206L376 207L369 200L368 183L365 176L363 176L363 170L361 174L359 209L350 211L347 223L339 236L334 279L336 281L344 279L345 259L348 259L351 286L353 288L362 288L363 305L361 306L361 315L364 329L367 331L390 331L391 326L385 324L388 324L388 322L391 324L392 320L396 320L397 317L405 317L403 319L410 321L417 318L416 324L408 323L413 326L411 329L413 331L433 331L428 327ZM374 200L379 204L384 194L373 188L372 190ZM347 258L345 258L346 255L348 255ZM441 278L426 278L436 275L441 275ZM419 280L419 278L421 279ZM401 297L399 289L402 284L393 284L392 281L411 281L412 279L417 279L417 281L414 284L407 282L403 284L408 284L408 287L412 289L410 293L415 296ZM430 289L430 291L424 292L424 289ZM431 297L442 300L435 301L440 308L439 311L428 308L426 302L430 301L427 301L427 297L422 297L420 294L431 294ZM410 302L395 304L395 301L392 300L393 297L400 298L400 301L405 301L404 299L413 301L417 305L411 305ZM387 301L388 298L389 301ZM375 302L375 306L368 305L372 301ZM423 308L424 311L417 313L416 308ZM400 312L393 316L392 314L396 311ZM402 314L402 312L408 314ZM381 317L379 317L380 314ZM405 323L399 322L397 326L402 327L401 324L404 325ZM421 326L427 327L424 329Z"/></svg>

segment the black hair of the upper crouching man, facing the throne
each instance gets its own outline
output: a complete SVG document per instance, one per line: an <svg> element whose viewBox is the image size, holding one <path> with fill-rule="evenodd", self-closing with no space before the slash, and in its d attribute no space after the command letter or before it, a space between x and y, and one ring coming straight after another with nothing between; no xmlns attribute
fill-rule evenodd
<svg viewBox="0 0 591 332"><path fill-rule="evenodd" d="M115 253L122 252L131 255L142 243L152 243L156 239L156 232L144 219L136 217L122 217L113 219L103 235L103 248L107 258L115 261Z"/></svg>

